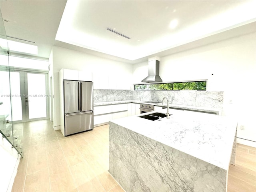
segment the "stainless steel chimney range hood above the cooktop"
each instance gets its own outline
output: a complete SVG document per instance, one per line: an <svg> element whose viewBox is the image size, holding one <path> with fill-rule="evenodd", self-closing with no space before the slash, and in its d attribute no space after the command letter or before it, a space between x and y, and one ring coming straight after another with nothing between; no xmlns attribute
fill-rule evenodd
<svg viewBox="0 0 256 192"><path fill-rule="evenodd" d="M148 76L141 82L153 83L162 82L159 76L159 57L153 57L148 59Z"/></svg>

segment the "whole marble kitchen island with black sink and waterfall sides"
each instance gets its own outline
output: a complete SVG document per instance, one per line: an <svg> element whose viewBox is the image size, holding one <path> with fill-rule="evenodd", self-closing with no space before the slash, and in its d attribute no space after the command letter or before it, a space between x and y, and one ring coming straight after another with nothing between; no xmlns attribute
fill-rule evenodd
<svg viewBox="0 0 256 192"><path fill-rule="evenodd" d="M161 121L138 117L144 114L110 121L110 174L127 192L225 192L236 121L191 111L170 114Z"/></svg>

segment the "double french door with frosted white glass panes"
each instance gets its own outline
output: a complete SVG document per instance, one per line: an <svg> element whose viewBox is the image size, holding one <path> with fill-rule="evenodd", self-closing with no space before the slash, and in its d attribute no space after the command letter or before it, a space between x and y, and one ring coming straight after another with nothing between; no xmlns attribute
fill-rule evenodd
<svg viewBox="0 0 256 192"><path fill-rule="evenodd" d="M49 118L48 73L10 72L13 122Z"/></svg>

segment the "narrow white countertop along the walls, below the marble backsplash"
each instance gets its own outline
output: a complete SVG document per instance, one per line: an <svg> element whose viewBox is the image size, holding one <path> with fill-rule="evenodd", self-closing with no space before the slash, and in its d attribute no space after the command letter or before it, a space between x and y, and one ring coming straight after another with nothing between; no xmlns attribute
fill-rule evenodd
<svg viewBox="0 0 256 192"><path fill-rule="evenodd" d="M145 103L138 100L125 100L125 101L109 101L109 102L95 102L94 106L103 106L103 105L114 105L114 104L124 104L124 103L137 103L137 104L152 104L154 106L160 106L160 107L167 107L167 104L164 103ZM202 111L202 112L211 112L216 114L221 114L222 109L219 108L209 108L209 107L199 107L199 106L188 106L188 105L180 105L180 104L170 104L169 108L178 108L178 109L184 109L184 110L195 110L195 111Z"/></svg>

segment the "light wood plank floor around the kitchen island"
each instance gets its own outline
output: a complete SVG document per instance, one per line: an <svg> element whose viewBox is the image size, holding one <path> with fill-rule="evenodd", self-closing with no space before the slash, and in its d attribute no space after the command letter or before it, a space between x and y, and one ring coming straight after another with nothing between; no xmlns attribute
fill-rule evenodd
<svg viewBox="0 0 256 192"><path fill-rule="evenodd" d="M123 192L108 173L108 125L64 137L49 120L22 126L21 158L13 192ZM256 192L256 148L237 145L230 165L228 192Z"/></svg>

